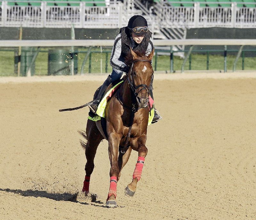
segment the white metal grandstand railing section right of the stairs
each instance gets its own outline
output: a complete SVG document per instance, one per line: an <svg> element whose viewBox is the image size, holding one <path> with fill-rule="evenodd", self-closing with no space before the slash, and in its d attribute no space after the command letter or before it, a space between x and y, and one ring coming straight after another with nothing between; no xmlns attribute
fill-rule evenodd
<svg viewBox="0 0 256 220"><path fill-rule="evenodd" d="M191 4L191 2L172 2L172 4ZM206 6L205 4L209 6ZM243 3L252 7L238 7L236 2L229 3L229 6L216 6L227 2L195 2L193 6L172 6L164 4L161 8L161 20L165 21L166 27L187 28L255 28L256 7L255 3ZM158 3L158 5L160 5ZM211 6L213 5L213 6ZM157 9L156 9L157 10ZM159 11L159 10L158 10Z"/></svg>

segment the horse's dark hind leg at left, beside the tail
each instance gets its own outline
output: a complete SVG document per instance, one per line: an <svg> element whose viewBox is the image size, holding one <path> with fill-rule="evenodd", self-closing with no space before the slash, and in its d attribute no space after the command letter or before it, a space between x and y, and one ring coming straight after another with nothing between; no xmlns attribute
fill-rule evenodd
<svg viewBox="0 0 256 220"><path fill-rule="evenodd" d="M89 192L90 178L92 171L94 169L94 158L97 151L97 148L100 144L100 141L103 139L100 131L98 130L96 123L92 120L87 121L86 125L86 136L82 134L84 138L87 139L87 143L81 141L81 145L85 148L85 178L84 178L84 186L82 192Z"/></svg>

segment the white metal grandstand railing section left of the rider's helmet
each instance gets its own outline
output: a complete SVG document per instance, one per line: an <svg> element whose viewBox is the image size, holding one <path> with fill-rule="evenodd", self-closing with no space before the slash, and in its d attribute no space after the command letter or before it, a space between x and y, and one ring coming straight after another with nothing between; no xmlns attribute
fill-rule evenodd
<svg viewBox="0 0 256 220"><path fill-rule="evenodd" d="M117 2L106 6L87 6L85 2L58 6L53 1L33 1L39 6L19 5L21 2L0 1L0 27L64 28L73 24L75 28L120 28L122 7Z"/></svg>

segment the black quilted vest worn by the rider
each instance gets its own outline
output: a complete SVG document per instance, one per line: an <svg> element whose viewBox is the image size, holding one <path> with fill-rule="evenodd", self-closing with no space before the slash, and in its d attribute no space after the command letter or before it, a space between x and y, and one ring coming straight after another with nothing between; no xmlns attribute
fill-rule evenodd
<svg viewBox="0 0 256 220"><path fill-rule="evenodd" d="M131 50L130 47L132 48L133 51L138 51L140 53L142 53L142 55L145 55L146 50L148 48L148 43L151 43L152 46L152 50L153 50L153 44L150 41L150 37L152 35L152 33L150 31L148 31L143 40L141 41L141 43L135 43L135 45L132 45L131 43L131 34L130 34L130 30L127 27L123 27L120 28L120 32L121 33L121 39L122 39L122 52L121 52L121 56L122 57L126 57L128 54L131 54Z"/></svg>

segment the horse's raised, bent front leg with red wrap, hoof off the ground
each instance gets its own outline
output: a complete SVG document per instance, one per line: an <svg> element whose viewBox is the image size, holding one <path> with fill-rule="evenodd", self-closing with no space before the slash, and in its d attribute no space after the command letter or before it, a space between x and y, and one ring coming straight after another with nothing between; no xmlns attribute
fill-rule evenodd
<svg viewBox="0 0 256 220"><path fill-rule="evenodd" d="M133 139L131 142L132 149L138 151L138 160L132 175L132 182L125 188L125 194L129 197L134 196L137 183L141 178L145 157L148 153L148 148L145 146L146 140L147 136L143 135L140 138Z"/></svg>

